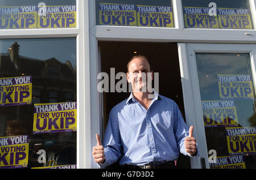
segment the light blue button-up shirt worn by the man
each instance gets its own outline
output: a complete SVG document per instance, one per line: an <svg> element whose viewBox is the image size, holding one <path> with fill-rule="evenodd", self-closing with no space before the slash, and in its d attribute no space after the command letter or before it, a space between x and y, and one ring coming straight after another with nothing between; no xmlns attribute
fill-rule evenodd
<svg viewBox="0 0 256 180"><path fill-rule="evenodd" d="M110 111L101 168L118 158L119 165L144 165L176 160L180 152L190 156L184 147L188 126L177 104L156 92L154 97L146 110L131 93Z"/></svg>

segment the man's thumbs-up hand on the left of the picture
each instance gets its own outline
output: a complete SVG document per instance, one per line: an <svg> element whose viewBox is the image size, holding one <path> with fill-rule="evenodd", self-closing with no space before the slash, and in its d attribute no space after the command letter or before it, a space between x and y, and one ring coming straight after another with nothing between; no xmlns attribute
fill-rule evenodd
<svg viewBox="0 0 256 180"><path fill-rule="evenodd" d="M101 164L105 162L104 147L101 145L101 137L96 134L97 145L93 147L93 158L94 161Z"/></svg>

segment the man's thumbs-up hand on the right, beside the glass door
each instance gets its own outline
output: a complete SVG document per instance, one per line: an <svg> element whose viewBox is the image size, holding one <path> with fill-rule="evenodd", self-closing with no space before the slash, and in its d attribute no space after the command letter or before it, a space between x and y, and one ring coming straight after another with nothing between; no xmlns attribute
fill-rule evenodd
<svg viewBox="0 0 256 180"><path fill-rule="evenodd" d="M185 149L186 152L191 156L194 156L197 152L196 138L193 137L193 129L193 126L189 128L189 135L187 138L185 138Z"/></svg>

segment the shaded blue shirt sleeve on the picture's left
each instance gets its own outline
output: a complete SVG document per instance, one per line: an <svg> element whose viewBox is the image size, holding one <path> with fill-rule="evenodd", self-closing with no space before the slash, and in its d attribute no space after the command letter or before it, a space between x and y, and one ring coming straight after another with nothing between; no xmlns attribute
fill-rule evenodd
<svg viewBox="0 0 256 180"><path fill-rule="evenodd" d="M118 114L113 109L109 115L103 146L105 162L103 164L99 164L100 168L106 168L106 166L114 164L114 162L116 162L121 156L122 143L119 131Z"/></svg>

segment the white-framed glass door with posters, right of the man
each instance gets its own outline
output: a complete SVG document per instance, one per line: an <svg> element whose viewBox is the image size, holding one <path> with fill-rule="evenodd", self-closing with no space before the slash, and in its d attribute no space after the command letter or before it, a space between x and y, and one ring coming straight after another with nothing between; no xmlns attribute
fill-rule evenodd
<svg viewBox="0 0 256 180"><path fill-rule="evenodd" d="M256 168L255 45L179 46L187 53L180 53L186 65L183 84L191 90L185 92L191 105L187 115L196 125L200 149L192 166Z"/></svg>

